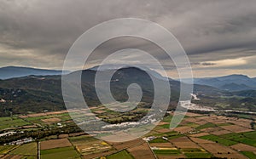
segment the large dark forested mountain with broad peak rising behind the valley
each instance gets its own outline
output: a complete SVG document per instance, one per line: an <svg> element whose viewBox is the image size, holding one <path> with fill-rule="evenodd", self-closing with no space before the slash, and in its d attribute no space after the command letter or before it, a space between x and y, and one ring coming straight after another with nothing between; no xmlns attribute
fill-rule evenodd
<svg viewBox="0 0 256 159"><path fill-rule="evenodd" d="M108 74L111 70L102 71ZM79 71L74 71L65 76L77 76ZM81 88L83 90L84 99L90 106L100 105L95 90L96 71L82 71ZM155 78L154 80L160 79ZM154 99L154 85L146 71L135 67L122 68L113 74L110 84L113 97L119 101L128 99L126 93L127 87L131 83L137 83L143 89L142 101L152 103ZM117 80L118 79L118 80ZM179 97L180 82L170 81L172 103L177 103ZM218 94L217 88L209 86L195 85L197 93L209 92L209 94ZM14 114L26 113L26 111L42 112L58 111L65 109L61 94L61 76L29 76L17 77L6 80L0 80L0 100L6 102L0 103L0 116L8 115L9 111Z"/></svg>

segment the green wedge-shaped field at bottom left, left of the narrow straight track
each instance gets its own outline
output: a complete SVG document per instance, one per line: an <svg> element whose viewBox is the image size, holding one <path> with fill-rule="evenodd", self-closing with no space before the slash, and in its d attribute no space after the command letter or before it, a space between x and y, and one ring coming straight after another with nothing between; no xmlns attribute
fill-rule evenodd
<svg viewBox="0 0 256 159"><path fill-rule="evenodd" d="M20 145L15 150L12 150L9 152L9 154L13 154L13 155L31 155L31 156L37 156L37 153L38 153L38 144L35 142Z"/></svg>

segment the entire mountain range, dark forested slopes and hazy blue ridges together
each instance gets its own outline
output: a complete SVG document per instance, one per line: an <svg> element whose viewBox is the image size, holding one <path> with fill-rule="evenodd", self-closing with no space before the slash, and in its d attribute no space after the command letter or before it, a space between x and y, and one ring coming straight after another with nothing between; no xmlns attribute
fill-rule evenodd
<svg viewBox="0 0 256 159"><path fill-rule="evenodd" d="M0 102L0 116L9 116L10 111L14 114L23 114L28 111L42 112L44 110L59 111L65 109L61 94L61 71L23 68L21 69L23 73L20 73L20 77L17 77L19 76L18 74L15 76L10 76L10 74L11 72L19 72L20 67L9 68L12 68L7 73L9 76L4 75L4 71L1 74L2 77L9 77L9 79L0 80L0 100L3 99L2 101L4 101ZM15 68L17 68L16 71ZM111 69L104 69L102 73L108 74L108 71L111 71ZM73 76L78 72L74 71L65 76ZM166 79L155 71L150 70L148 72L156 80L162 81ZM101 105L96 95L95 77L95 68L82 71L81 88L85 101L91 106ZM143 89L142 101L149 104L152 103L154 99L154 86L146 71L136 67L125 67L117 70L113 74L112 79L110 85L115 99L125 101L128 98L126 93L127 87L131 83L137 83ZM229 109L236 108L239 110L242 108L243 110L256 111L256 90L243 90L245 88L253 89L253 80L255 78L241 75L197 78L194 84L194 94L200 100L193 100L193 102L198 105L207 105L220 109L227 107ZM173 110L179 98L180 82L169 78L169 83L172 90L169 109ZM232 91L230 90L231 88Z"/></svg>

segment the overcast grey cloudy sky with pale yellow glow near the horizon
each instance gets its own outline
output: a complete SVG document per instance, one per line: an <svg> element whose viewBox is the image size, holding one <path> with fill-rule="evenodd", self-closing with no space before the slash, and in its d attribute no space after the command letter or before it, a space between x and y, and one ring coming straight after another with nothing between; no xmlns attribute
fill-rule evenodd
<svg viewBox="0 0 256 159"><path fill-rule="evenodd" d="M189 56L194 77L256 77L254 0L2 0L0 66L61 69L84 31L117 18L151 20L171 31ZM124 37L102 44L89 66L98 65L112 48L134 46L154 50L168 65L168 75L177 77L172 62L141 39Z"/></svg>

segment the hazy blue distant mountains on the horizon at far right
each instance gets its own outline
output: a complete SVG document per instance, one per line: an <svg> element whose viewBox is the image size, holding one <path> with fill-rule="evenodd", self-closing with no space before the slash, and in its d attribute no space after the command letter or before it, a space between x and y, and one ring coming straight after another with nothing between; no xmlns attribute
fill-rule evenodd
<svg viewBox="0 0 256 159"><path fill-rule="evenodd" d="M194 82L228 91L256 90L256 79L245 75L195 78Z"/></svg>

